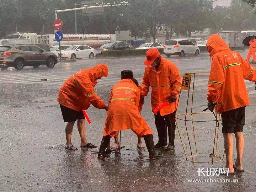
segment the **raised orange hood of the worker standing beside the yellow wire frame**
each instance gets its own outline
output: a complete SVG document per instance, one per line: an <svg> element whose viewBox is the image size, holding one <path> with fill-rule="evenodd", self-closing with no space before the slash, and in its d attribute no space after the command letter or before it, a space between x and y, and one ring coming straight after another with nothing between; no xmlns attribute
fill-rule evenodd
<svg viewBox="0 0 256 192"><path fill-rule="evenodd" d="M231 50L226 42L217 34L212 34L206 44L210 57L224 50Z"/></svg>

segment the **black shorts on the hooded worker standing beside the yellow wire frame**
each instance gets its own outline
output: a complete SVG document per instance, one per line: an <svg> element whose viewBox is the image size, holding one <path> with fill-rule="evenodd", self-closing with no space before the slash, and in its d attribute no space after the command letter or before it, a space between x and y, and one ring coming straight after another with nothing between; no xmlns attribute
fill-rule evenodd
<svg viewBox="0 0 256 192"><path fill-rule="evenodd" d="M245 107L222 113L222 133L242 132L245 125Z"/></svg>

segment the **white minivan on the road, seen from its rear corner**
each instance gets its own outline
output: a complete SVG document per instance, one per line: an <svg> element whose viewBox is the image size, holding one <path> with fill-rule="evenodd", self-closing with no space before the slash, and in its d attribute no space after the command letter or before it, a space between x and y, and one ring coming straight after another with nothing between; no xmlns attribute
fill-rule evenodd
<svg viewBox="0 0 256 192"><path fill-rule="evenodd" d="M199 53L199 47L187 39L172 39L165 42L164 54L167 57L171 55L180 55L183 57L186 54L198 55Z"/></svg>

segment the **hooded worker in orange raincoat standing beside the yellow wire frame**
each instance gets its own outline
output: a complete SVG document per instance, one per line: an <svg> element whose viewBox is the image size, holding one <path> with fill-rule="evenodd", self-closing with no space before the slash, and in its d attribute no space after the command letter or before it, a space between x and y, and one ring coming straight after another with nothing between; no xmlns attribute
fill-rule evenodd
<svg viewBox="0 0 256 192"><path fill-rule="evenodd" d="M256 81L256 71L238 52L231 51L228 44L217 34L209 37L207 50L212 59L208 81L208 108L222 113L222 133L226 153L226 165L229 174L244 171L242 153L245 125L245 106L250 105L245 80ZM233 137L236 137L237 158L233 165Z"/></svg>

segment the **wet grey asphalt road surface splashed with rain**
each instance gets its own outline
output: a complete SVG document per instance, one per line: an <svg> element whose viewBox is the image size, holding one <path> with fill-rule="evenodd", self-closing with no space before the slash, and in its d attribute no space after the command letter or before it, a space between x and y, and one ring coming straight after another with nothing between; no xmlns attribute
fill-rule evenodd
<svg viewBox="0 0 256 192"><path fill-rule="evenodd" d="M242 56L245 57L245 54L246 52L242 52ZM133 70L134 77L139 82L142 81L143 60L144 57L97 58L78 60L74 63L58 63L53 69L40 66L37 69L25 67L21 71L14 68L0 71L0 191L255 191L256 91L252 82L246 82L251 106L246 108L244 127L245 172L228 177L231 180L238 179L238 183L189 183L188 179L217 178L216 176L198 177L198 167L222 167L224 162L192 164L187 161L177 129L175 152L163 153L156 161L147 160L148 152L145 149L126 150L136 148L137 144L137 137L130 130L122 132L122 145L126 148L121 150L121 155L112 153L110 158L104 160L97 159L97 154L91 153L95 149L79 148L78 151L64 149L65 123L56 101L63 82L76 71L98 63L106 63L110 71L109 76L98 81L96 92L107 102L110 89L119 80L121 70ZM187 72L208 72L210 68L209 56L206 53L198 57L172 56L170 60L177 65L182 75ZM206 107L207 78L201 76L195 80L194 112L202 112ZM41 79L48 81L41 82ZM178 113L185 112L186 98L187 92L183 91ZM100 145L106 111L90 107L87 112L92 121L92 124L86 124L87 139ZM158 136L149 96L145 98L142 115L153 129L156 143ZM198 114L195 118L214 119L212 114ZM186 153L190 155L184 122L177 121L177 123ZM211 160L207 156L213 148L214 126L214 122L194 123L198 154L206 155L201 156L201 160ZM188 123L188 132L191 136L192 151L195 154L190 123ZM76 126L72 141L75 146L80 145ZM111 144L113 143L112 139ZM218 154L223 155L221 128ZM234 160L235 157L234 149Z"/></svg>

